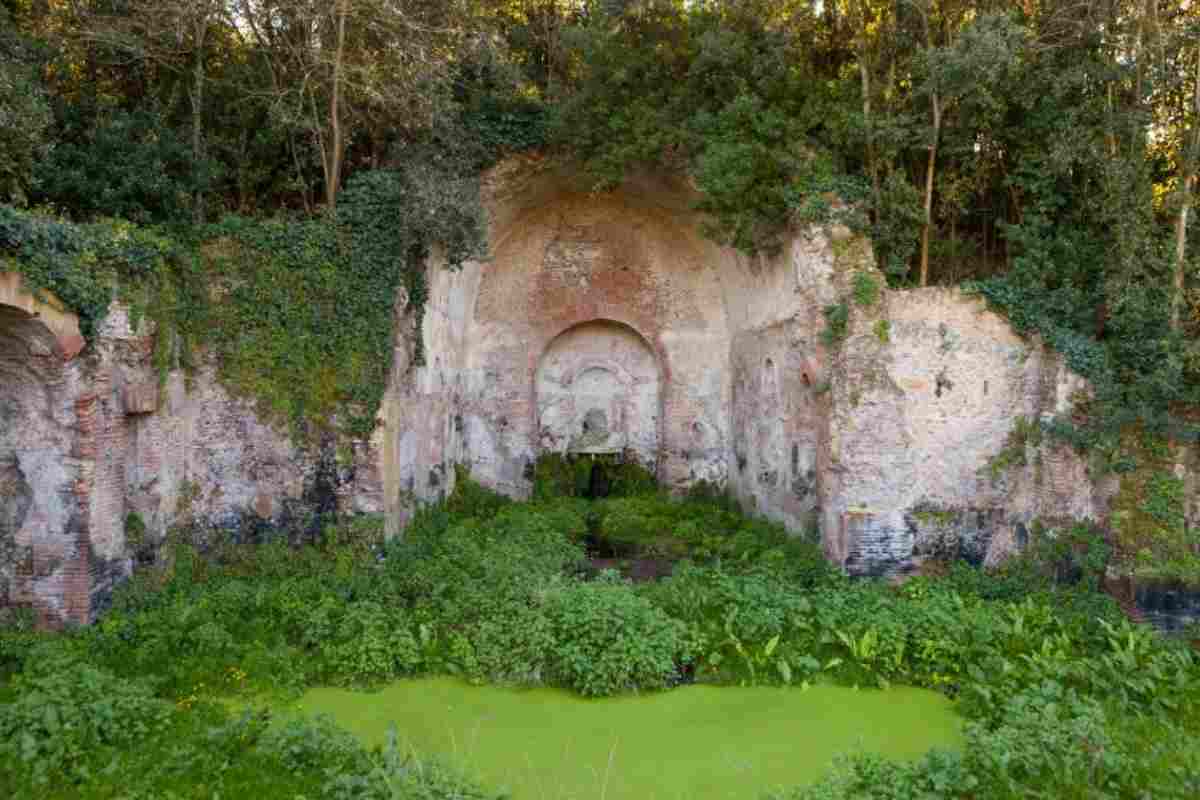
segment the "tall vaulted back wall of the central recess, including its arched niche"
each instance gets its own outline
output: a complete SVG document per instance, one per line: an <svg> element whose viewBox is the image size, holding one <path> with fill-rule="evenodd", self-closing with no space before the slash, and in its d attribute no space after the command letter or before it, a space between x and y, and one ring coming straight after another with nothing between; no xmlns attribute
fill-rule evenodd
<svg viewBox="0 0 1200 800"><path fill-rule="evenodd" d="M425 365L388 392L389 494L400 506L436 498L461 464L524 497L540 451L617 443L667 486L724 485L720 251L701 236L688 190L650 181L595 197L533 169L493 175L488 192L490 258L431 269ZM588 411L604 435L581 435Z"/></svg>

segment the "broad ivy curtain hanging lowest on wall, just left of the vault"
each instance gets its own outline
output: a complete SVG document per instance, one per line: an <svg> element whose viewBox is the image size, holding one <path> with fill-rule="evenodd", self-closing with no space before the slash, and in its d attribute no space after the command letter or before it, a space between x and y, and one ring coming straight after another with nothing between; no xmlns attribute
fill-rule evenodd
<svg viewBox="0 0 1200 800"><path fill-rule="evenodd" d="M230 217L214 227L209 281L224 297L210 306L212 330L240 331L208 341L222 380L298 434L330 425L367 434L391 363L392 299L408 282L410 300L424 301L432 239L409 203L395 174L365 173L347 186L336 224ZM458 223L449 217L444 230Z"/></svg>

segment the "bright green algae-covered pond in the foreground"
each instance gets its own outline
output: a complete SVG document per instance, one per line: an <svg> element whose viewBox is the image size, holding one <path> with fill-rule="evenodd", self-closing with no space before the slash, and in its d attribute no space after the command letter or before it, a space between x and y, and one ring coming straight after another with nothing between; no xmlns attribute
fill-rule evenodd
<svg viewBox="0 0 1200 800"><path fill-rule="evenodd" d="M317 688L299 705L370 744L395 722L418 753L515 800L754 799L816 780L842 752L912 758L961 741L952 704L917 688L685 686L589 700L428 679L378 692Z"/></svg>

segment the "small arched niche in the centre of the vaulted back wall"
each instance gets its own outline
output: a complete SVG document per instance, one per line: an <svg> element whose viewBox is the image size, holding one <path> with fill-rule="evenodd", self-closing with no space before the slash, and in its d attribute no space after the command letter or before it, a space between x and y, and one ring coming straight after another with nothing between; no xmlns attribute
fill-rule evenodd
<svg viewBox="0 0 1200 800"><path fill-rule="evenodd" d="M622 323L595 319L559 333L538 360L538 449L558 453L659 452L661 371L649 343Z"/></svg>

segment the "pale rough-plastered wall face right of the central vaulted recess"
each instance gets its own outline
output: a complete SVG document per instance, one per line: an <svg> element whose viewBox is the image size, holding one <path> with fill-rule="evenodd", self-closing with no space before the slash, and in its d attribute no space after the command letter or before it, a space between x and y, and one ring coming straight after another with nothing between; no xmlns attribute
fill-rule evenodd
<svg viewBox="0 0 1200 800"><path fill-rule="evenodd" d="M854 309L830 378L824 541L852 572L907 570L947 548L996 560L1036 518L1105 515L1108 485L1076 453L1013 439L1018 420L1069 410L1084 383L978 299L883 293ZM994 469L1014 446L1031 452Z"/></svg>

